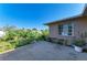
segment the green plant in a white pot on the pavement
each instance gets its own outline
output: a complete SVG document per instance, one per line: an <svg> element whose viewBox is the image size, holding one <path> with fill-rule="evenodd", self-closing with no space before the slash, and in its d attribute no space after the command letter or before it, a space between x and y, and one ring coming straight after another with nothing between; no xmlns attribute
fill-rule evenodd
<svg viewBox="0 0 87 65"><path fill-rule="evenodd" d="M85 45L84 40L75 40L74 41L74 48L76 52L83 52L83 46Z"/></svg>

